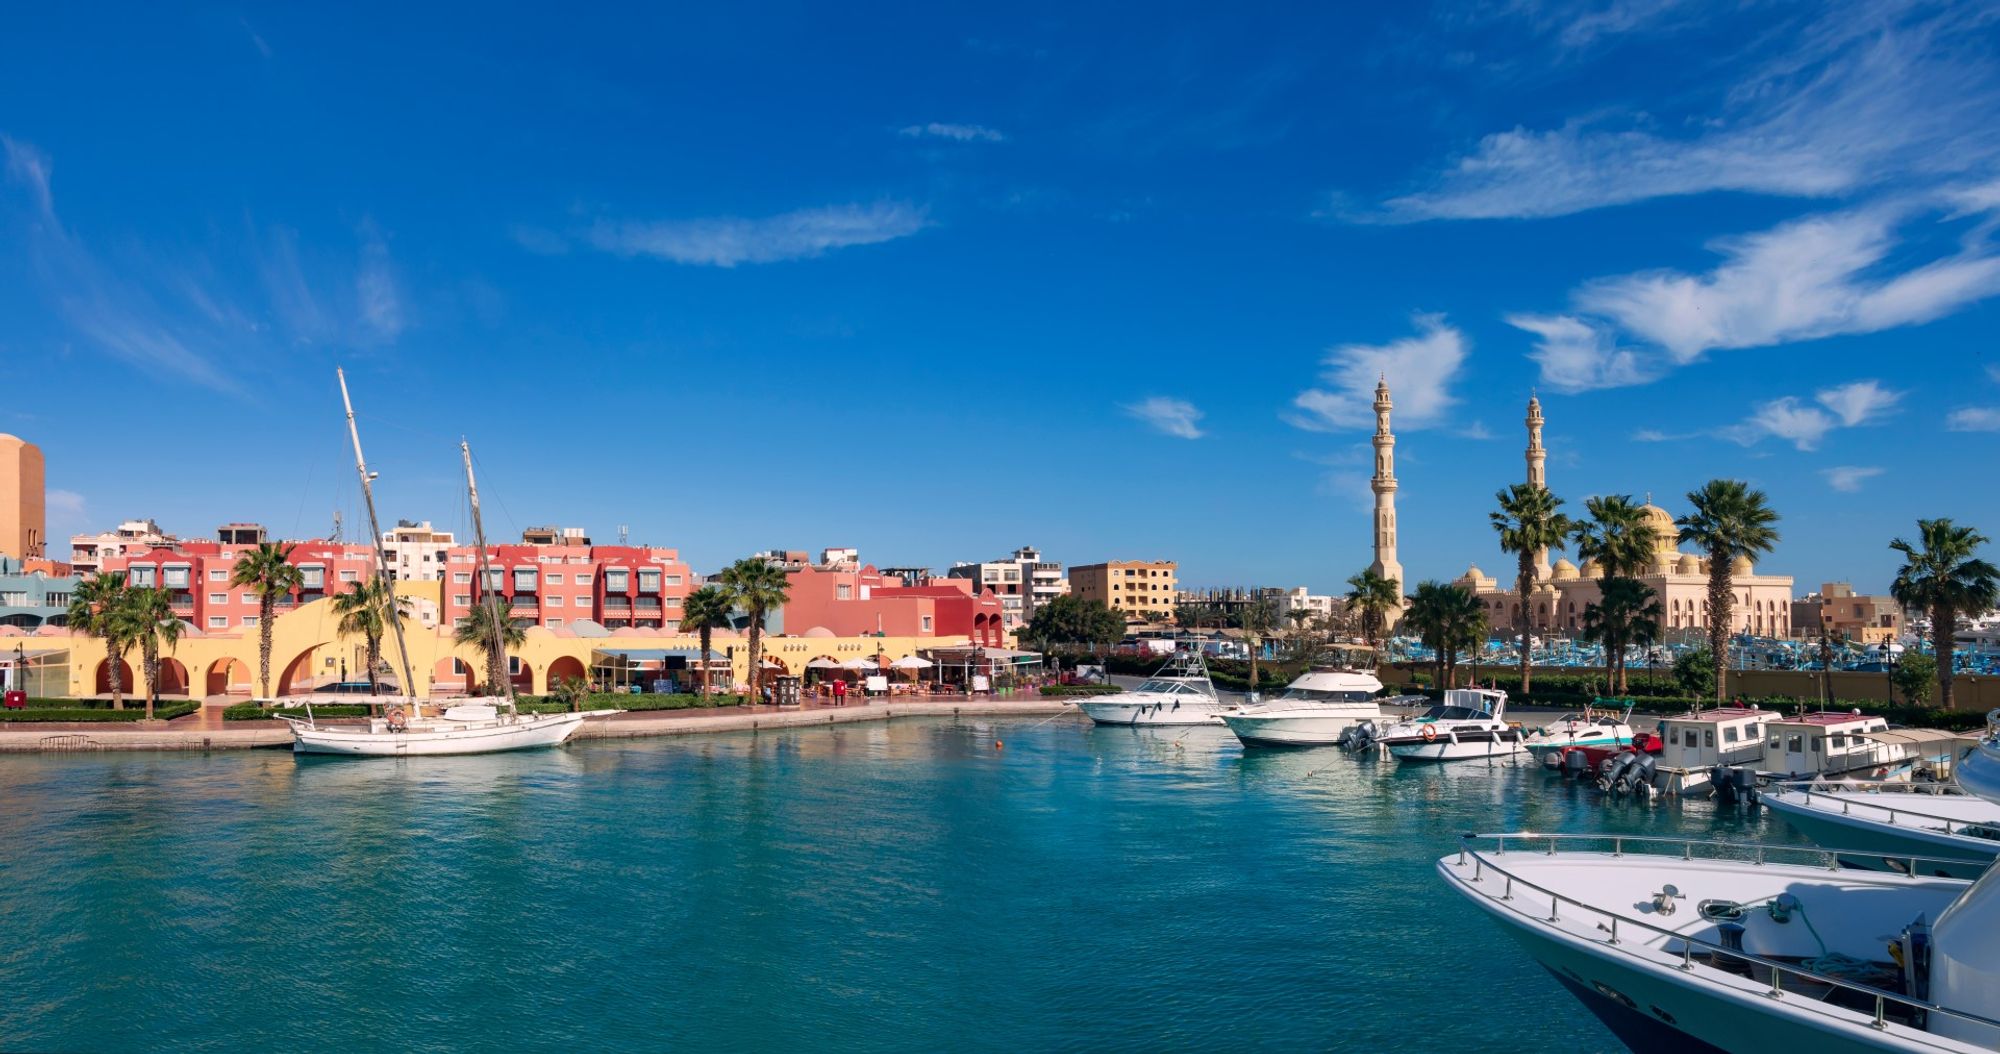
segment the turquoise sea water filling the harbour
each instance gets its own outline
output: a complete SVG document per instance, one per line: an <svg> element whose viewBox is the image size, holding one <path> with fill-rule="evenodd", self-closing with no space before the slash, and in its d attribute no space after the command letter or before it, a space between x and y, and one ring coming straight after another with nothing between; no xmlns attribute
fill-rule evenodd
<svg viewBox="0 0 2000 1054"><path fill-rule="evenodd" d="M16 756L0 794L0 1050L1614 1050L1432 862L1792 840L1076 718Z"/></svg>

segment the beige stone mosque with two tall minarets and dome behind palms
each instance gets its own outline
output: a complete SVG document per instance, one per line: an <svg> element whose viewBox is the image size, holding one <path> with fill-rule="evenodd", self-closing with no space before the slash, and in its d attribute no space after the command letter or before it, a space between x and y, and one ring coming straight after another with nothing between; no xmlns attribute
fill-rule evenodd
<svg viewBox="0 0 2000 1054"><path fill-rule="evenodd" d="M1374 570L1394 578L1402 592L1402 564L1396 560L1396 436L1390 430L1388 382L1376 386L1376 494L1374 510ZM1548 452L1542 448L1542 400L1528 400L1528 482L1548 486ZM1652 586L1660 600L1662 636L1680 638L1684 632L1702 632L1708 626L1708 560L1692 552L1680 552L1674 516L1650 500L1642 508L1646 522L1660 538L1652 556L1652 568L1640 582ZM1574 514L1574 512L1572 512ZM1530 632L1582 632L1584 608L1600 596L1604 572L1594 560L1576 566L1568 560L1548 560L1548 552L1536 556L1534 588L1528 590ZM1790 636L1792 632L1792 576L1760 574L1750 560L1738 558L1730 570L1736 604L1732 610L1734 630L1756 636ZM1514 558L1506 556L1506 570L1490 576L1478 566L1466 568L1458 576L1458 586L1486 606L1486 618L1494 630L1522 628L1522 598L1514 590Z"/></svg>

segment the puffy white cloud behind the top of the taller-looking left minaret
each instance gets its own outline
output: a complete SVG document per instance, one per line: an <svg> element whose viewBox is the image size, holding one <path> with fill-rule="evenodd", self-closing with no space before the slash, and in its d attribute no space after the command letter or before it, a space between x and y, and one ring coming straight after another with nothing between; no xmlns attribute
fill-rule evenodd
<svg viewBox="0 0 2000 1054"><path fill-rule="evenodd" d="M1326 352L1320 386L1292 400L1286 420L1314 432L1342 432L1374 424L1374 390L1388 380L1398 428L1444 424L1458 404L1452 382L1472 342L1442 314L1418 314L1416 336L1388 344L1340 344Z"/></svg>

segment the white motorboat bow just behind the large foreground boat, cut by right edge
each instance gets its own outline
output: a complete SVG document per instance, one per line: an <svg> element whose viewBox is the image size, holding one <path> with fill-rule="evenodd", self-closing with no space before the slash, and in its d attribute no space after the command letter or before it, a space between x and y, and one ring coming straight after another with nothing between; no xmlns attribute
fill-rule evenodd
<svg viewBox="0 0 2000 1054"><path fill-rule="evenodd" d="M1772 784L1758 802L1820 846L1870 850L1852 866L1908 872L1908 856L1958 858L1944 874L1970 878L2000 858L2000 804L1948 782Z"/></svg>

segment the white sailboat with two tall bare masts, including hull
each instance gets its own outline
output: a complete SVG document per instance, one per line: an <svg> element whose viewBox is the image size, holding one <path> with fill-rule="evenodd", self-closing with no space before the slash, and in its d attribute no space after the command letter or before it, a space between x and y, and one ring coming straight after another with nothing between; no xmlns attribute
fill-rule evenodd
<svg viewBox="0 0 2000 1054"><path fill-rule="evenodd" d="M382 546L382 526L374 512L374 474L362 458L362 436L354 426L354 402L348 398L348 378L340 378L340 402L348 410L348 436L354 440L354 470L362 480L362 498L368 506L368 536L374 538L376 574L388 578L388 552ZM466 490L472 496L472 532L478 546L478 576L486 594L486 618L496 626L500 620L492 588L486 586L486 532L480 526L480 488L472 478L472 448L458 444L466 460ZM396 630L396 652L402 656L402 684L412 686L416 678L410 670L410 646L402 634L402 618L390 616ZM494 660L506 668L500 634L492 634ZM502 678L504 680L504 678ZM586 718L604 718L616 710L590 710L572 714L522 714L514 706L514 688L508 684L502 696L458 700L438 708L414 696L388 698L386 714L370 718L366 724L320 724L306 704L304 718L284 718L292 726L294 754L334 754L350 758L410 758L438 754L496 754L502 750L528 750L536 746L556 746L582 728ZM426 712L430 708L430 712Z"/></svg>

